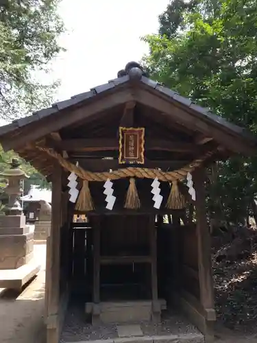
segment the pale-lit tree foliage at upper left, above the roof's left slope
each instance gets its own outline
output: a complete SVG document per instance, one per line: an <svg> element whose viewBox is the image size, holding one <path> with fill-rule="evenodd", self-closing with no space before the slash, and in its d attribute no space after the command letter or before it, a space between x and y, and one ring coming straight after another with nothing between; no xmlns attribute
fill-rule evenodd
<svg viewBox="0 0 257 343"><path fill-rule="evenodd" d="M49 71L60 51L64 26L59 0L5 0L0 4L0 117L15 119L48 106L58 82L41 84L36 73Z"/></svg>

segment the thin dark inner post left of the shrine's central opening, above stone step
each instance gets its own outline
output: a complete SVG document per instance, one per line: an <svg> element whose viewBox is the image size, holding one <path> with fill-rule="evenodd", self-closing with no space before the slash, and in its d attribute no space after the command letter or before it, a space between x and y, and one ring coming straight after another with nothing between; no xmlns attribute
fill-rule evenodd
<svg viewBox="0 0 257 343"><path fill-rule="evenodd" d="M93 221L93 314L92 322L97 324L99 322L100 315L100 226L101 220L99 216L94 217Z"/></svg>

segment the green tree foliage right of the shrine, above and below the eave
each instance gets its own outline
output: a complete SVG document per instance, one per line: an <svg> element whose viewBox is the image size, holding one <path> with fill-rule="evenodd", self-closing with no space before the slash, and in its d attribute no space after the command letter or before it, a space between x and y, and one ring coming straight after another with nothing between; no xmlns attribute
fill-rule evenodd
<svg viewBox="0 0 257 343"><path fill-rule="evenodd" d="M256 133L256 3L175 0L160 16L159 32L143 38L151 77ZM252 211L256 167L256 156L219 163L215 187L224 217L242 222Z"/></svg>

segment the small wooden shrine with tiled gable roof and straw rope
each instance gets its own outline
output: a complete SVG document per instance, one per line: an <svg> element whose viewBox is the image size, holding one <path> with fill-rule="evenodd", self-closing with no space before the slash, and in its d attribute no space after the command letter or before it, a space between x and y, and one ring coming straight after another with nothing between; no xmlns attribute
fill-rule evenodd
<svg viewBox="0 0 257 343"><path fill-rule="evenodd" d="M255 153L249 133L130 62L107 84L1 127L0 142L52 182L47 343L58 343L73 294L93 322L158 322L178 306L212 341L205 168Z"/></svg>

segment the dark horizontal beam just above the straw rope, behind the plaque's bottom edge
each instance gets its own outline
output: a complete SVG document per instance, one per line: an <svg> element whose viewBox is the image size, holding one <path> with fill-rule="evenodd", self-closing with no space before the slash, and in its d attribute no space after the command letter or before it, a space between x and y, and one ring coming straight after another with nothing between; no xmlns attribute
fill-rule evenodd
<svg viewBox="0 0 257 343"><path fill-rule="evenodd" d="M76 163L88 171L107 171L109 169L116 170L121 168L118 160L114 159L100 159L100 158L69 158L69 161ZM145 168L160 168L164 171L180 169L187 165L190 161L152 161L145 160Z"/></svg>

